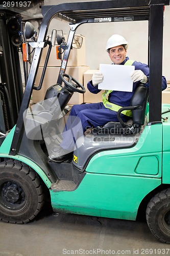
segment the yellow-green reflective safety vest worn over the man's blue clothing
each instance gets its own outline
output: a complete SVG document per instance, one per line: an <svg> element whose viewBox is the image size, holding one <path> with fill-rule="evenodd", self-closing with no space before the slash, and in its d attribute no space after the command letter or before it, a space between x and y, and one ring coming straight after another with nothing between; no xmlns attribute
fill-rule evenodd
<svg viewBox="0 0 170 256"><path fill-rule="evenodd" d="M133 64L134 60L128 59L124 65L129 65L131 66ZM123 108L123 106L119 106L117 104L111 103L108 101L108 96L109 94L112 92L112 90L106 90L103 94L103 104L105 106L105 108L113 110L113 111L118 111L119 109ZM121 112L122 114L126 115L126 116L132 116L132 112L131 110L124 110Z"/></svg>

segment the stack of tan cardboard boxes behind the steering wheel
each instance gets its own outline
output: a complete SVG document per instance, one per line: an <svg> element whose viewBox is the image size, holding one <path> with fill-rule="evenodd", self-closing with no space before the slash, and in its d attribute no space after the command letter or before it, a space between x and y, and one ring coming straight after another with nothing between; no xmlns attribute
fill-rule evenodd
<svg viewBox="0 0 170 256"><path fill-rule="evenodd" d="M67 34L64 35L65 39L67 40ZM81 35L82 36L82 35ZM83 75L84 73L89 70L88 66L85 66L86 59L85 59L85 37L83 37L82 47L80 49L72 48L69 54L67 67L65 73L76 78L80 83L83 84ZM39 81L41 78L45 58L47 53L47 47L43 49L42 57L40 60L40 65L38 69L38 73L35 80L35 86L39 85ZM46 73L44 76L44 80L42 83L42 88L40 91L33 90L33 103L36 103L40 100L44 99L46 90L56 84L57 78L60 72L61 60L58 60L56 57L56 47L52 47L52 52L50 58L48 60ZM81 104L84 102L83 94L81 93L74 93L71 97L69 104Z"/></svg>

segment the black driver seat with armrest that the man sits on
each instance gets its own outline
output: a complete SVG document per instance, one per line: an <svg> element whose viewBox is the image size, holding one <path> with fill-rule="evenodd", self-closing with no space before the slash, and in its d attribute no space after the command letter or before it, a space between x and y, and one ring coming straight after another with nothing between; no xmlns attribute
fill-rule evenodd
<svg viewBox="0 0 170 256"><path fill-rule="evenodd" d="M117 112L119 122L108 122L103 126L93 127L93 134L136 134L139 133L145 120L145 110L149 96L149 88L139 85L130 101L130 106L121 108ZM124 110L132 111L132 118L124 122L120 113Z"/></svg>

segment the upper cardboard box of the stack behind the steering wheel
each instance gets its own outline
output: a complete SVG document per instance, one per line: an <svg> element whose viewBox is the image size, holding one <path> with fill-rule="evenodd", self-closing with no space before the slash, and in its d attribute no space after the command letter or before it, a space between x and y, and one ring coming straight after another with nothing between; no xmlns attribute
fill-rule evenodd
<svg viewBox="0 0 170 256"><path fill-rule="evenodd" d="M85 36L83 36L83 35L80 35L80 36L83 37L82 47L80 49L72 48L70 50L67 66L79 67L79 66L86 65ZM67 41L68 34L64 34L64 37L65 37L65 40ZM40 67L44 66L47 50L48 50L48 46L45 47L42 51L42 56L41 56L40 65L39 65ZM62 57L63 57L63 54L62 54ZM61 66L61 60L57 59L57 57L56 57L56 46L52 47L47 66L48 67L60 67Z"/></svg>

